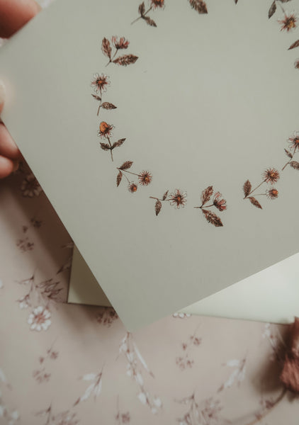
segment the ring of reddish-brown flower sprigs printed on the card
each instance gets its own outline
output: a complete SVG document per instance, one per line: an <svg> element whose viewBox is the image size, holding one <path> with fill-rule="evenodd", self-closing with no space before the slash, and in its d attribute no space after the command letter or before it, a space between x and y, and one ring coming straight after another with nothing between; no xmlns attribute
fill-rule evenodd
<svg viewBox="0 0 299 425"><path fill-rule="evenodd" d="M203 0L187 0L191 8L200 15L208 13L208 7ZM235 4L238 0L233 0ZM274 0L269 8L268 17L269 19L276 13L278 8L281 9L283 17L278 19L278 23L281 25L281 31L292 31L298 26L298 16L295 12L287 13L283 8L284 3L288 3L291 0ZM156 21L152 18L152 13L156 11L164 10L164 0L149 0L149 5L146 8L145 1L138 6L138 17L132 21L131 24L137 21L145 21L145 23L151 27L157 27ZM110 40L103 38L101 42L101 50L103 55L108 58L106 67L110 64L115 64L120 67L127 67L130 64L135 64L138 57L131 53L122 52L127 51L130 45L129 40L125 37L113 36ZM288 50L293 50L295 47L299 47L299 40L293 42ZM299 69L299 59L294 64L296 69ZM94 74L91 81L91 87L94 89L94 94L91 96L98 102L97 115L100 114L101 110L111 111L117 108L113 103L103 101L104 94L110 86L110 79L106 74ZM113 128L112 124L102 120L98 127L98 137L101 138L100 146L103 151L110 152L111 161L113 162L113 152L116 148L121 147L125 142L125 137L113 142ZM278 198L278 190L274 187L274 184L281 178L281 173L286 167L291 167L295 170L299 170L299 162L294 160L295 154L299 152L299 131L295 131L293 135L288 137L288 149L284 149L288 162L281 166L281 170L278 171L276 168L269 167L262 171L261 181L257 186L252 188L252 183L247 180L243 185L244 200L254 205L254 207L262 209L260 203L260 197L266 196L269 200L275 200ZM116 186L120 186L122 181L126 181L128 191L130 193L136 193L139 187L148 186L152 182L152 173L147 170L139 172L132 171L132 161L125 161L120 166L116 167ZM261 192L261 193L256 193ZM259 197L259 198L258 198ZM175 188L174 191L169 193L169 189L165 190L161 197L150 196L154 202L154 212L159 215L162 210L162 205L171 205L176 209L184 208L187 203L187 193L181 189ZM203 213L203 217L208 223L215 227L222 227L223 223L218 212L223 212L227 209L227 201L222 198L222 194L219 191L214 191L213 186L208 186L201 192L201 205L196 205L193 208L198 208ZM216 214L216 212L217 214Z"/></svg>

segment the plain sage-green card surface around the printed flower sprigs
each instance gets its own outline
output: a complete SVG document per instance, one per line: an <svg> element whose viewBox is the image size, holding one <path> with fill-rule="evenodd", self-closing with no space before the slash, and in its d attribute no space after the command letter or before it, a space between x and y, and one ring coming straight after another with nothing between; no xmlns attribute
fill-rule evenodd
<svg viewBox="0 0 299 425"><path fill-rule="evenodd" d="M265 169L281 170L298 130L294 35L257 0L209 4L206 16L172 0L155 13L157 28L130 25L137 6L57 1L0 55L4 122L131 330L295 254L299 230L298 171L287 167L263 210L242 191ZM106 67L101 40L113 35L130 40L135 64ZM107 100L117 105L101 118L95 72L109 75ZM113 163L99 147L101 120L115 126L113 140L126 138ZM116 187L127 160L152 172L150 186ZM223 227L193 208L212 185L227 200ZM187 191L186 207L164 205L156 217L150 196L176 188Z"/></svg>

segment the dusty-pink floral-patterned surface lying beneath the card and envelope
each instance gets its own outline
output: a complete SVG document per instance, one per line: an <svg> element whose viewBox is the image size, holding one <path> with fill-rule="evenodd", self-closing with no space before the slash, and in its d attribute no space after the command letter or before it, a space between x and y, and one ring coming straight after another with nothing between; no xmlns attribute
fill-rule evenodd
<svg viewBox="0 0 299 425"><path fill-rule="evenodd" d="M174 314L128 333L66 303L72 240L26 164L0 203L0 424L298 425L288 326Z"/></svg>

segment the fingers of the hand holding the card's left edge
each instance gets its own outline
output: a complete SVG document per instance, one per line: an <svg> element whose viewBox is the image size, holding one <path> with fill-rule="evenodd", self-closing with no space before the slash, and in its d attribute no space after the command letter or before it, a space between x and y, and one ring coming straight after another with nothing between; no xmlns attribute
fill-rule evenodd
<svg viewBox="0 0 299 425"><path fill-rule="evenodd" d="M0 37L11 37L39 11L40 6L34 0L0 0ZM4 98L5 87L0 81L0 113ZM21 152L0 120L0 179L16 171L21 158Z"/></svg>

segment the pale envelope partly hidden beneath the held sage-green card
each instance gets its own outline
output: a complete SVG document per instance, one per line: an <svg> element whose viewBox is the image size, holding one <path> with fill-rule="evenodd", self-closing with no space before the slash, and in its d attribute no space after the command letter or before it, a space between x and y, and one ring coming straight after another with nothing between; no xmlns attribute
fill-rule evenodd
<svg viewBox="0 0 299 425"><path fill-rule="evenodd" d="M299 254L181 309L180 313L292 323L299 316ZM74 246L68 302L111 306Z"/></svg>

